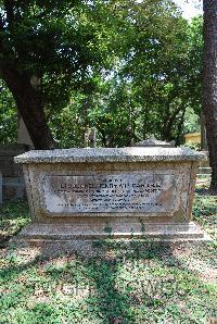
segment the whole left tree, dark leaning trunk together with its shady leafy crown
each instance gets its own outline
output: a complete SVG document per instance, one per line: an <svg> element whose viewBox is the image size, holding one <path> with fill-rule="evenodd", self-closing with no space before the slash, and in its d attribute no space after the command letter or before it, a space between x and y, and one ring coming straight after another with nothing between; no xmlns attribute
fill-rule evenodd
<svg viewBox="0 0 217 324"><path fill-rule="evenodd" d="M0 1L0 75L36 149L54 147L44 107L68 102L72 88L91 88L86 79L106 61L114 24L103 2Z"/></svg>

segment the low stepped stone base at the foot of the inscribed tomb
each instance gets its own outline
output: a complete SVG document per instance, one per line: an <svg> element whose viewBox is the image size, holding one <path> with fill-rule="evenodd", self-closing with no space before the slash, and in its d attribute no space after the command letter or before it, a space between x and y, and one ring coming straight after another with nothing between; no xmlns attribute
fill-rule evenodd
<svg viewBox="0 0 217 324"><path fill-rule="evenodd" d="M138 238L153 241L197 241L210 240L207 234L193 222L188 224L127 224L126 226L102 227L85 224L39 224L31 223L26 226L11 242L23 241L33 245L40 242L71 242L73 240L101 240L101 239L130 239Z"/></svg>

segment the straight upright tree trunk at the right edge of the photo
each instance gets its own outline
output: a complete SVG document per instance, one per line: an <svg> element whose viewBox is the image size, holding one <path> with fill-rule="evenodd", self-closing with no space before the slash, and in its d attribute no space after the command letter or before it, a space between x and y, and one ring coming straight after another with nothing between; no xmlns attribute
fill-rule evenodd
<svg viewBox="0 0 217 324"><path fill-rule="evenodd" d="M210 190L217 192L217 1L204 0L203 110L213 169Z"/></svg>

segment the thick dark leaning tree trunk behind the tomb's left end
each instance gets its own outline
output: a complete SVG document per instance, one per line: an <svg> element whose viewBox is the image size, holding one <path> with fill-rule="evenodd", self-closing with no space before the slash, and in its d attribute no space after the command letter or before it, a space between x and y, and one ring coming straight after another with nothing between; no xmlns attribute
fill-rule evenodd
<svg viewBox="0 0 217 324"><path fill-rule="evenodd" d="M35 149L53 149L54 141L46 122L41 94L31 85L30 77L4 68L3 78L13 94Z"/></svg>

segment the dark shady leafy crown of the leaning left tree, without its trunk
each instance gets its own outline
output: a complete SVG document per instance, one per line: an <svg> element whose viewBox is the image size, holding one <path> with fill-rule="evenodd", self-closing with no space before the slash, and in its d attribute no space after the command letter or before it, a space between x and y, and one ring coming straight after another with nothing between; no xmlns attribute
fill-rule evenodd
<svg viewBox="0 0 217 324"><path fill-rule="evenodd" d="M92 91L94 74L113 60L117 22L106 1L12 1L0 10L0 66L37 77L47 108L65 107L72 89Z"/></svg>

